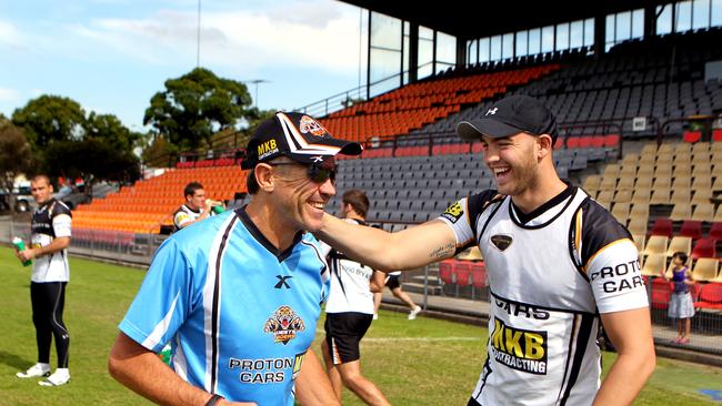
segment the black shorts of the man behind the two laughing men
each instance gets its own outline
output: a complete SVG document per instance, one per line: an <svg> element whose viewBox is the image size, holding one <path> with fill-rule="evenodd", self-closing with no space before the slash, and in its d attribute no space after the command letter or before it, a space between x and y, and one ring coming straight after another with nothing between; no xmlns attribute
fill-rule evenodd
<svg viewBox="0 0 722 406"><path fill-rule="evenodd" d="M361 357L359 343L367 334L373 315L365 313L327 313L325 343L333 365L345 364Z"/></svg>

